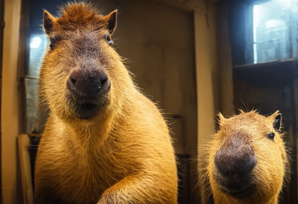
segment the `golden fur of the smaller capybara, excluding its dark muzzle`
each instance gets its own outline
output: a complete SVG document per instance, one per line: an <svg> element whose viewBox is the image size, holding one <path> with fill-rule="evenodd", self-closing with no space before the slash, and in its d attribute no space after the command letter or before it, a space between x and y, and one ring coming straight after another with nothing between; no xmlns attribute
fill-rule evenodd
<svg viewBox="0 0 298 204"><path fill-rule="evenodd" d="M273 115L265 117L256 111L244 112L237 116L225 119L219 114L220 130L212 136L212 140L207 144L207 156L203 157L206 167L204 178L209 180L209 185L213 193L215 204L277 204L278 197L283 187L283 179L288 170L288 159L283 142L283 134L273 127L275 117ZM216 167L214 163L215 153L226 145L226 141L231 139L235 132L245 135L241 143L248 144L256 155L257 165L252 170L253 181L256 184L252 195L245 198L235 198L221 191L219 183L214 178ZM275 133L274 141L268 139L266 135Z"/></svg>

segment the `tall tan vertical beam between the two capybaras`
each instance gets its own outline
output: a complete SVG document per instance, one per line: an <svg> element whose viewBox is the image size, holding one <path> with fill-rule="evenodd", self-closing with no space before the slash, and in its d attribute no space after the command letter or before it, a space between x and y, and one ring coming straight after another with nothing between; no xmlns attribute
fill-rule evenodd
<svg viewBox="0 0 298 204"><path fill-rule="evenodd" d="M218 64L216 49L215 3L200 1L199 10L194 12L195 60L198 103L198 167L203 168L200 159L206 139L215 133L215 112L218 111ZM203 172L199 171L199 177ZM202 179L204 180L204 179ZM199 185L201 204L207 202L204 183Z"/></svg>

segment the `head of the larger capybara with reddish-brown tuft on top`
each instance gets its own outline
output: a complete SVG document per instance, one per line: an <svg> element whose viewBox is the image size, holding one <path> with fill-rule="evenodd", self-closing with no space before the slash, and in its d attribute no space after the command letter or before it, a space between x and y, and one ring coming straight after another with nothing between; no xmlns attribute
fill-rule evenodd
<svg viewBox="0 0 298 204"><path fill-rule="evenodd" d="M59 17L44 11L49 37L40 73L41 94L61 119L92 121L105 117L133 84L112 47L117 10L101 15L86 3L61 7ZM114 111L115 112L115 111Z"/></svg>

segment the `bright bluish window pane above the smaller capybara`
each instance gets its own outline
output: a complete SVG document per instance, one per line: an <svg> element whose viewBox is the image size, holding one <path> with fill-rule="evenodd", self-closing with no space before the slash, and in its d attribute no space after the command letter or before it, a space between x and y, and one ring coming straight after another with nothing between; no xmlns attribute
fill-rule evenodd
<svg viewBox="0 0 298 204"><path fill-rule="evenodd" d="M254 6L254 63L297 57L297 4L272 0Z"/></svg>

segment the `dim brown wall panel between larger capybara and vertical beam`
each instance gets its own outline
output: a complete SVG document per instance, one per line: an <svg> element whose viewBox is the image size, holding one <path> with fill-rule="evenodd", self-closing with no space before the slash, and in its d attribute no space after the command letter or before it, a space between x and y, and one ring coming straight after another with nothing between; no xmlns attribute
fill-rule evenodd
<svg viewBox="0 0 298 204"><path fill-rule="evenodd" d="M97 0L93 0L97 4ZM117 52L131 63L137 84L159 102L170 119L177 152L196 140L194 28L191 12L148 0L98 1L105 13L119 9L113 36ZM194 153L194 152L192 152Z"/></svg>

